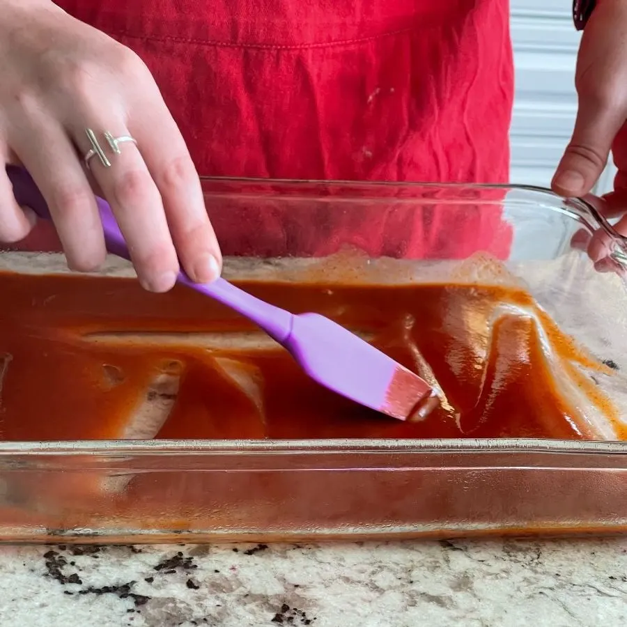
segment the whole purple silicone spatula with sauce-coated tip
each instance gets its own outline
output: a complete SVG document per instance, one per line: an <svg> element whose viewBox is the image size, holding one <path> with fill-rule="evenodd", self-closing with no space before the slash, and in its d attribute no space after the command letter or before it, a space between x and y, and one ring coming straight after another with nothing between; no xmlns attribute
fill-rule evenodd
<svg viewBox="0 0 627 627"><path fill-rule="evenodd" d="M47 203L29 173L13 166L7 172L17 202L49 219ZM111 208L106 201L97 201L107 250L129 259ZM284 346L311 378L356 403L401 420L426 417L439 403L426 381L324 316L295 316L224 279L198 284L180 272L177 280L252 320Z"/></svg>

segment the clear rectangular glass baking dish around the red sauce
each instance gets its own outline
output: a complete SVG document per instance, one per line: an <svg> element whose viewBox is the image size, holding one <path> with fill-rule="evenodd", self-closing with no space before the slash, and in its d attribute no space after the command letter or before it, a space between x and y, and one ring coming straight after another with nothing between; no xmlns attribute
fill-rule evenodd
<svg viewBox="0 0 627 627"><path fill-rule="evenodd" d="M307 275L332 284L350 275L357 284L394 284L465 268L470 282L524 281L562 330L611 364L612 376L595 383L611 396L619 420L608 424L588 408L594 435L572 441L3 441L0 541L627 529L627 442L620 441L627 420L627 242L602 217L600 201L516 186L208 179L203 187L226 278ZM590 241L602 242L602 262L590 260ZM24 251L1 253L0 270L68 272L60 254ZM102 272L132 277L115 259Z"/></svg>

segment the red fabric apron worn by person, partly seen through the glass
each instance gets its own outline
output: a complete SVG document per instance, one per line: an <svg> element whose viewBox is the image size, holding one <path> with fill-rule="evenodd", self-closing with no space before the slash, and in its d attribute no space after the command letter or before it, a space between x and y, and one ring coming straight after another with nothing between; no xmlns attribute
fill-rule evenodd
<svg viewBox="0 0 627 627"><path fill-rule="evenodd" d="M203 175L509 178L507 0L56 3L144 59ZM500 212L479 206L441 219L401 205L348 217L260 211L212 215L224 254L328 254L354 242L371 254L506 256L511 243ZM255 241L240 226L251 219Z"/></svg>

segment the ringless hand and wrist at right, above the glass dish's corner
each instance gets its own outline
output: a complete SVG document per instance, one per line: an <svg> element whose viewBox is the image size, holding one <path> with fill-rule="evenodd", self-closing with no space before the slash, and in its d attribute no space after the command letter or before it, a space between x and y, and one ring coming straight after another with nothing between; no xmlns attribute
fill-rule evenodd
<svg viewBox="0 0 627 627"><path fill-rule="evenodd" d="M612 145L627 140L627 3L597 0L581 39L575 72L579 106L575 130L557 167L552 188L584 196L605 168ZM627 148L627 146L626 146ZM622 149L627 156L625 148ZM627 160L617 160L619 189L627 183Z"/></svg>

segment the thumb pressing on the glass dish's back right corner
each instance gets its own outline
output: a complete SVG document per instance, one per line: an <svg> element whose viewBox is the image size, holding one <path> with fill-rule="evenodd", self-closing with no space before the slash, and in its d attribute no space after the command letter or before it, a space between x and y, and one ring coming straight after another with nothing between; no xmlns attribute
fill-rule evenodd
<svg viewBox="0 0 627 627"><path fill-rule="evenodd" d="M562 196L588 194L605 168L623 122L614 107L600 106L598 98L580 95L575 130L553 177L553 191Z"/></svg>

